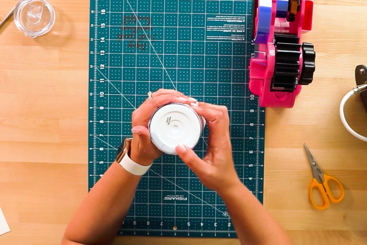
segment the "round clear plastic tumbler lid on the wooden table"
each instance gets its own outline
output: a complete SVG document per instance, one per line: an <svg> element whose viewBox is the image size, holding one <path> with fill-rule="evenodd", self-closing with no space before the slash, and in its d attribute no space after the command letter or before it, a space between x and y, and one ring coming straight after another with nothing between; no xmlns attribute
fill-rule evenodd
<svg viewBox="0 0 367 245"><path fill-rule="evenodd" d="M15 6L14 22L26 36L41 36L54 25L55 10L46 0L21 0Z"/></svg>

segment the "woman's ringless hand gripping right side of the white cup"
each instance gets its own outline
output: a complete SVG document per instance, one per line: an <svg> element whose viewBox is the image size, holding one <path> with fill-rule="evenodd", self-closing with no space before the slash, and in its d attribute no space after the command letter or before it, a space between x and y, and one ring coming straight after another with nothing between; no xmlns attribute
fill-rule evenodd
<svg viewBox="0 0 367 245"><path fill-rule="evenodd" d="M201 183L221 195L222 191L241 184L233 165L228 110L225 106L204 102L192 108L206 119L209 127L207 154L201 160L192 149L184 145L177 146L176 152Z"/></svg>

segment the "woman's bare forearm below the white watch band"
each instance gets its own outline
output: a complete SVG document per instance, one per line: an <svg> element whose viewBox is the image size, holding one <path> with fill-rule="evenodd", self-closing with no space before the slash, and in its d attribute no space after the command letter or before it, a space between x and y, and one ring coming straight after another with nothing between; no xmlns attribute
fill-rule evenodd
<svg viewBox="0 0 367 245"><path fill-rule="evenodd" d="M94 185L65 231L63 245L109 244L117 234L141 176L114 162Z"/></svg>

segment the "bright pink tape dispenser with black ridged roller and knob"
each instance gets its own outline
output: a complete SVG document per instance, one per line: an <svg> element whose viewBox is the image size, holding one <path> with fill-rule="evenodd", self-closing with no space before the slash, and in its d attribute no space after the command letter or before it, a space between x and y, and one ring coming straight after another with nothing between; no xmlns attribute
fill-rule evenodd
<svg viewBox="0 0 367 245"><path fill-rule="evenodd" d="M262 107L292 108L315 71L313 44L300 43L301 33L312 29L313 1L253 0L252 10L249 88Z"/></svg>

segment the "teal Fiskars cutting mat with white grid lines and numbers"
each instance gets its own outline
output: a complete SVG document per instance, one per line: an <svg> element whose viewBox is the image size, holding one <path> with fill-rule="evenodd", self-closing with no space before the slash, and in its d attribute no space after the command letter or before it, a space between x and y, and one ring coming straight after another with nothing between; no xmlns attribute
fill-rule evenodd
<svg viewBox="0 0 367 245"><path fill-rule="evenodd" d="M89 188L131 136L132 111L166 88L228 107L238 176L262 202L265 111L247 84L250 13L245 0L91 1ZM221 198L171 155L142 177L119 234L236 237Z"/></svg>

